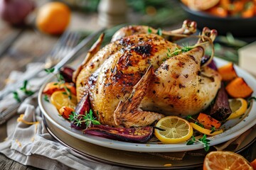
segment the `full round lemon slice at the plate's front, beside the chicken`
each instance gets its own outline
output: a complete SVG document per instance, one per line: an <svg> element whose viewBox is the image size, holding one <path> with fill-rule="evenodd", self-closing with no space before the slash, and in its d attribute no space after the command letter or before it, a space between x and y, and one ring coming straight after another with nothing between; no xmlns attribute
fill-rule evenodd
<svg viewBox="0 0 256 170"><path fill-rule="evenodd" d="M164 143L185 142L193 135L193 128L188 121L174 115L161 118L156 127L163 129L155 129L154 134Z"/></svg>

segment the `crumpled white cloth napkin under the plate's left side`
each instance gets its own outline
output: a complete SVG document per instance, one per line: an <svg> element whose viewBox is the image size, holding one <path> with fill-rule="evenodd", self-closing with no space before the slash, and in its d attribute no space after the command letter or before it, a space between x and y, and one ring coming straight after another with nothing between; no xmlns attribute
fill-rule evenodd
<svg viewBox="0 0 256 170"><path fill-rule="evenodd" d="M38 63L30 64L27 71L12 72L9 79L18 79L24 74L29 74L38 68ZM46 81L46 73L42 72L38 77L29 81L33 90L40 88ZM18 94L22 95L21 91ZM0 101L0 113L6 107L16 103L13 95L6 96ZM23 114L23 120L36 122L37 124L27 125L17 122L19 114ZM0 142L0 152L6 157L24 165L35 166L41 169L125 169L108 164L101 164L82 157L72 149L60 145L46 130L41 118L41 111L38 108L37 94L26 98L18 108L18 114L8 121L7 137ZM110 153L111 154L111 153Z"/></svg>

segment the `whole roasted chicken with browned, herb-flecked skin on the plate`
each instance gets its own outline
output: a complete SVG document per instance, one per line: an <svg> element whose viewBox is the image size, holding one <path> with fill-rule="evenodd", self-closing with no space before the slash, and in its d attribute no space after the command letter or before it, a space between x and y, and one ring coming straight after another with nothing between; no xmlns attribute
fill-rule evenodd
<svg viewBox="0 0 256 170"><path fill-rule="evenodd" d="M148 26L127 26L100 49L101 35L73 74L78 101L89 96L100 123L114 127L146 126L166 115L203 111L220 88L218 72L201 64L217 33L204 28L192 49L173 42L195 31L191 21L161 35Z"/></svg>

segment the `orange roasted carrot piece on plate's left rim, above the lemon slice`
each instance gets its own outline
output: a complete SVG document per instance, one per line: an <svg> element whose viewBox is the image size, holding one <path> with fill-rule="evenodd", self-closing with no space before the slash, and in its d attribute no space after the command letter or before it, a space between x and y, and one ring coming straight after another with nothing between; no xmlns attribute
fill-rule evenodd
<svg viewBox="0 0 256 170"><path fill-rule="evenodd" d="M64 86L67 89L69 89L72 94L76 95L75 84L73 83L58 84L58 82L50 82L46 84L46 87L43 89L43 94L51 95L55 91L65 91Z"/></svg>

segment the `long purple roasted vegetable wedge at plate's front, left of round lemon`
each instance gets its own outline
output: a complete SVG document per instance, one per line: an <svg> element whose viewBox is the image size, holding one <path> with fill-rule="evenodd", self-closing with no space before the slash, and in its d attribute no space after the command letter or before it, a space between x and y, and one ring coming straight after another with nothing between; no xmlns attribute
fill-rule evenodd
<svg viewBox="0 0 256 170"><path fill-rule="evenodd" d="M92 127L84 130L84 133L124 142L146 143L151 139L153 130L154 128L150 126L142 128L112 128L107 125L92 125Z"/></svg>

